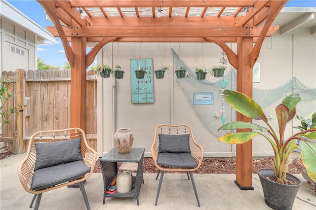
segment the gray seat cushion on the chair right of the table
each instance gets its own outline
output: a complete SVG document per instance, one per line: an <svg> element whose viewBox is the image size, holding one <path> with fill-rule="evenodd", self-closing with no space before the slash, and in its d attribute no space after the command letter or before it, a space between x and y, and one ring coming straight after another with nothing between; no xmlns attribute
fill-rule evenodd
<svg viewBox="0 0 316 210"><path fill-rule="evenodd" d="M159 153L157 164L165 167L195 168L197 162L190 153Z"/></svg>

